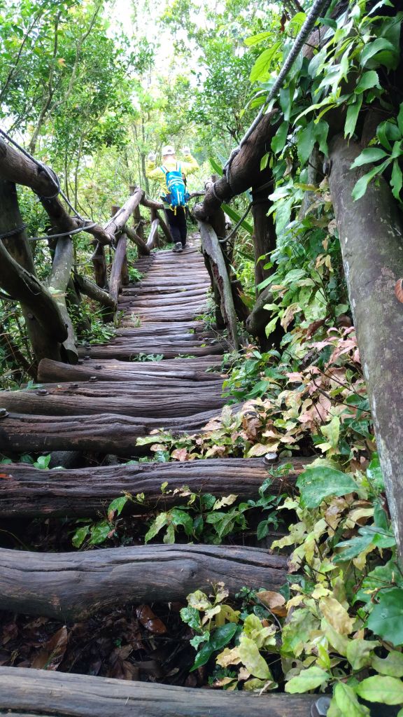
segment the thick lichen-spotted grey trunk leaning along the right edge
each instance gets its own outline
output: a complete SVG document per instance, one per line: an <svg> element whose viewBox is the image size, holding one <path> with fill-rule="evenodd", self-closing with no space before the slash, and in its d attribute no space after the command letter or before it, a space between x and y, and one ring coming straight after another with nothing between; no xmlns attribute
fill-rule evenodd
<svg viewBox="0 0 403 717"><path fill-rule="evenodd" d="M330 146L329 187L340 237L351 310L369 394L389 510L403 559L403 307L394 293L403 278L403 224L387 181L370 182L353 201L351 170L361 152L341 136Z"/></svg>

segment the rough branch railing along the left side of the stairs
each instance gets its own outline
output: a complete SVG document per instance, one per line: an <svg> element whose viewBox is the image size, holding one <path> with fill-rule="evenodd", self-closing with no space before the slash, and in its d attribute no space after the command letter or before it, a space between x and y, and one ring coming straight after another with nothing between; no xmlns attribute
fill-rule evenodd
<svg viewBox="0 0 403 717"><path fill-rule="evenodd" d="M130 187L130 196L123 206L114 207L113 216L102 226L82 219L78 213L72 217L66 211L62 201L54 195L56 182L53 176L52 170L0 139L0 289L22 305L35 360L48 358L74 364L78 353L66 305L68 285L73 281L78 293L100 303L104 320L112 320L120 288L128 283L128 242L136 245L138 255L149 255L159 245L158 229L168 241L172 239L160 214L163 204L148 199L140 187ZM45 282L37 277L30 239L19 212L16 184L27 186L37 194L52 227L53 260ZM150 210L148 238L144 237L145 222L140 206ZM134 217L133 227L128 225L131 217ZM72 234L79 231L92 236L90 262L94 282L80 274L74 262ZM109 279L105 257L107 246L113 251Z"/></svg>

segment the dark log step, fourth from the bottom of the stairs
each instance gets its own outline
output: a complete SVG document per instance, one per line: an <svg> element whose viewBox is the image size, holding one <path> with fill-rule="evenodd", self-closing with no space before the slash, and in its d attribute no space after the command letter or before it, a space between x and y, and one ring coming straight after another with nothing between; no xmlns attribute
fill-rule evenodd
<svg viewBox="0 0 403 717"><path fill-rule="evenodd" d="M81 450L136 456L137 437L161 427L174 433L199 431L214 416L217 409L163 421L112 413L59 417L9 414L0 419L0 452Z"/></svg>

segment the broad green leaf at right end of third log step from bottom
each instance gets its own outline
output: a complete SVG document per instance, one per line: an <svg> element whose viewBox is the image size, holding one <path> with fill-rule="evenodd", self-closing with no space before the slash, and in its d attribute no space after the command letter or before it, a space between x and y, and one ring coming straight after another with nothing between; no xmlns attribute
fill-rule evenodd
<svg viewBox="0 0 403 717"><path fill-rule="evenodd" d="M301 494L301 505L305 508L318 508L329 495L356 493L356 481L341 470L326 465L308 466L297 480Z"/></svg>

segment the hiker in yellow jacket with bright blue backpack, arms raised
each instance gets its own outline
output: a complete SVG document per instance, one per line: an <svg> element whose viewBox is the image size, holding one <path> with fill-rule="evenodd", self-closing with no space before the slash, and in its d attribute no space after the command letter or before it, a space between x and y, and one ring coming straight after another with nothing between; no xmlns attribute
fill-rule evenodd
<svg viewBox="0 0 403 717"><path fill-rule="evenodd" d="M189 194L186 191L184 175L191 174L199 168L196 159L191 156L189 147L182 150L185 161L176 160L174 147L167 145L162 148L162 164L156 168L156 154L150 152L146 164L148 179L158 179L163 194L163 208L174 239L174 252L182 252L186 246L186 207Z"/></svg>

